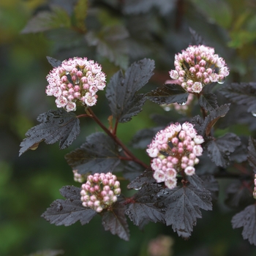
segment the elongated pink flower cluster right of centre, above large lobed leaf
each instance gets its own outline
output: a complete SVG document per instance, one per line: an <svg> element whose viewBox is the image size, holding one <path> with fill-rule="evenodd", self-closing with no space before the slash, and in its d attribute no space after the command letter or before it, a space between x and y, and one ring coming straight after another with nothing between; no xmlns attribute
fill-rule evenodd
<svg viewBox="0 0 256 256"><path fill-rule="evenodd" d="M154 170L156 181L165 182L165 186L173 189L177 184L177 174L184 170L188 176L195 173L194 165L197 165L203 153L200 144L203 137L197 135L197 131L189 122L184 124L170 124L170 126L157 132L157 135L148 145L146 150Z"/></svg>

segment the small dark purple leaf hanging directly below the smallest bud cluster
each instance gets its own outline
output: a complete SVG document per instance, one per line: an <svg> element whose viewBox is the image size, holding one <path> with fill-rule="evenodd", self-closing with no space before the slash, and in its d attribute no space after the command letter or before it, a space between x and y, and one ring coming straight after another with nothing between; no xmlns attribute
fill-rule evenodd
<svg viewBox="0 0 256 256"><path fill-rule="evenodd" d="M122 203L115 203L111 210L105 211L102 216L102 225L105 230L110 230L113 235L129 241L129 227L124 211L126 207Z"/></svg>

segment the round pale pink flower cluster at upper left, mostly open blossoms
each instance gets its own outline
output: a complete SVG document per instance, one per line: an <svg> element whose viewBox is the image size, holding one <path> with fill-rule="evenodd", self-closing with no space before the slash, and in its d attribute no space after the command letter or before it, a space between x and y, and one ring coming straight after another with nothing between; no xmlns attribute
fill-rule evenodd
<svg viewBox="0 0 256 256"><path fill-rule="evenodd" d="M86 58L62 61L47 75L46 94L56 97L58 108L75 111L78 104L93 106L97 91L105 88L105 73L97 62Z"/></svg>

